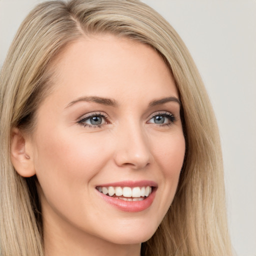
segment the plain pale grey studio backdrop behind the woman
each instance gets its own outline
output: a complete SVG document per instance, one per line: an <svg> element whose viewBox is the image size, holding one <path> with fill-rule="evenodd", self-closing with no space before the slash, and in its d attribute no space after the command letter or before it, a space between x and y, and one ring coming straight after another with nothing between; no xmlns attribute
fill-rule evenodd
<svg viewBox="0 0 256 256"><path fill-rule="evenodd" d="M39 2L0 0L0 66ZM220 129L232 244L238 256L256 256L256 1L143 2L176 29L201 73Z"/></svg>

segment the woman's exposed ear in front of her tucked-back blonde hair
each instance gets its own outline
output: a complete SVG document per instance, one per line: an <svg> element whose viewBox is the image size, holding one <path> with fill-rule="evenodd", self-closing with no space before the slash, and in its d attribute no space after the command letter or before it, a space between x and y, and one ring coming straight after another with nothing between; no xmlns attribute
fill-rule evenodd
<svg viewBox="0 0 256 256"><path fill-rule="evenodd" d="M30 177L35 174L31 141L18 128L12 129L10 159L19 175Z"/></svg>

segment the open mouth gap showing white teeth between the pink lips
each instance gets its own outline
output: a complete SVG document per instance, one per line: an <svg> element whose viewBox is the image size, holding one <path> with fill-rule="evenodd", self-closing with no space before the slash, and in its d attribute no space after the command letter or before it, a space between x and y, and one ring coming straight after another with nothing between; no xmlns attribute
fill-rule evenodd
<svg viewBox="0 0 256 256"><path fill-rule="evenodd" d="M99 192L124 201L142 201L151 194L153 188L152 186L96 186Z"/></svg>

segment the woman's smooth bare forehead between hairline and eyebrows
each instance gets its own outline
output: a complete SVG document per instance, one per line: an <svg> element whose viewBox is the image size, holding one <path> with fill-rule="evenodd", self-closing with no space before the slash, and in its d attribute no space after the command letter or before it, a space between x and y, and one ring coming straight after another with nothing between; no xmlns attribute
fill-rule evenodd
<svg viewBox="0 0 256 256"><path fill-rule="evenodd" d="M96 93L112 97L119 92L122 97L129 93L134 97L160 90L178 96L172 75L156 50L125 37L82 38L66 46L51 66L54 87L62 92L69 87L69 96Z"/></svg>

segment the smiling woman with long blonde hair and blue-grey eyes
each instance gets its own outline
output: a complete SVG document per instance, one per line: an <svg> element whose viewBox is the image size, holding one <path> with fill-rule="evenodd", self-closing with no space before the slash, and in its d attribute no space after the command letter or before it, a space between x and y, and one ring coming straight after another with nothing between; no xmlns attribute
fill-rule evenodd
<svg viewBox="0 0 256 256"><path fill-rule="evenodd" d="M2 255L231 255L214 115L154 10L41 3L0 81Z"/></svg>

